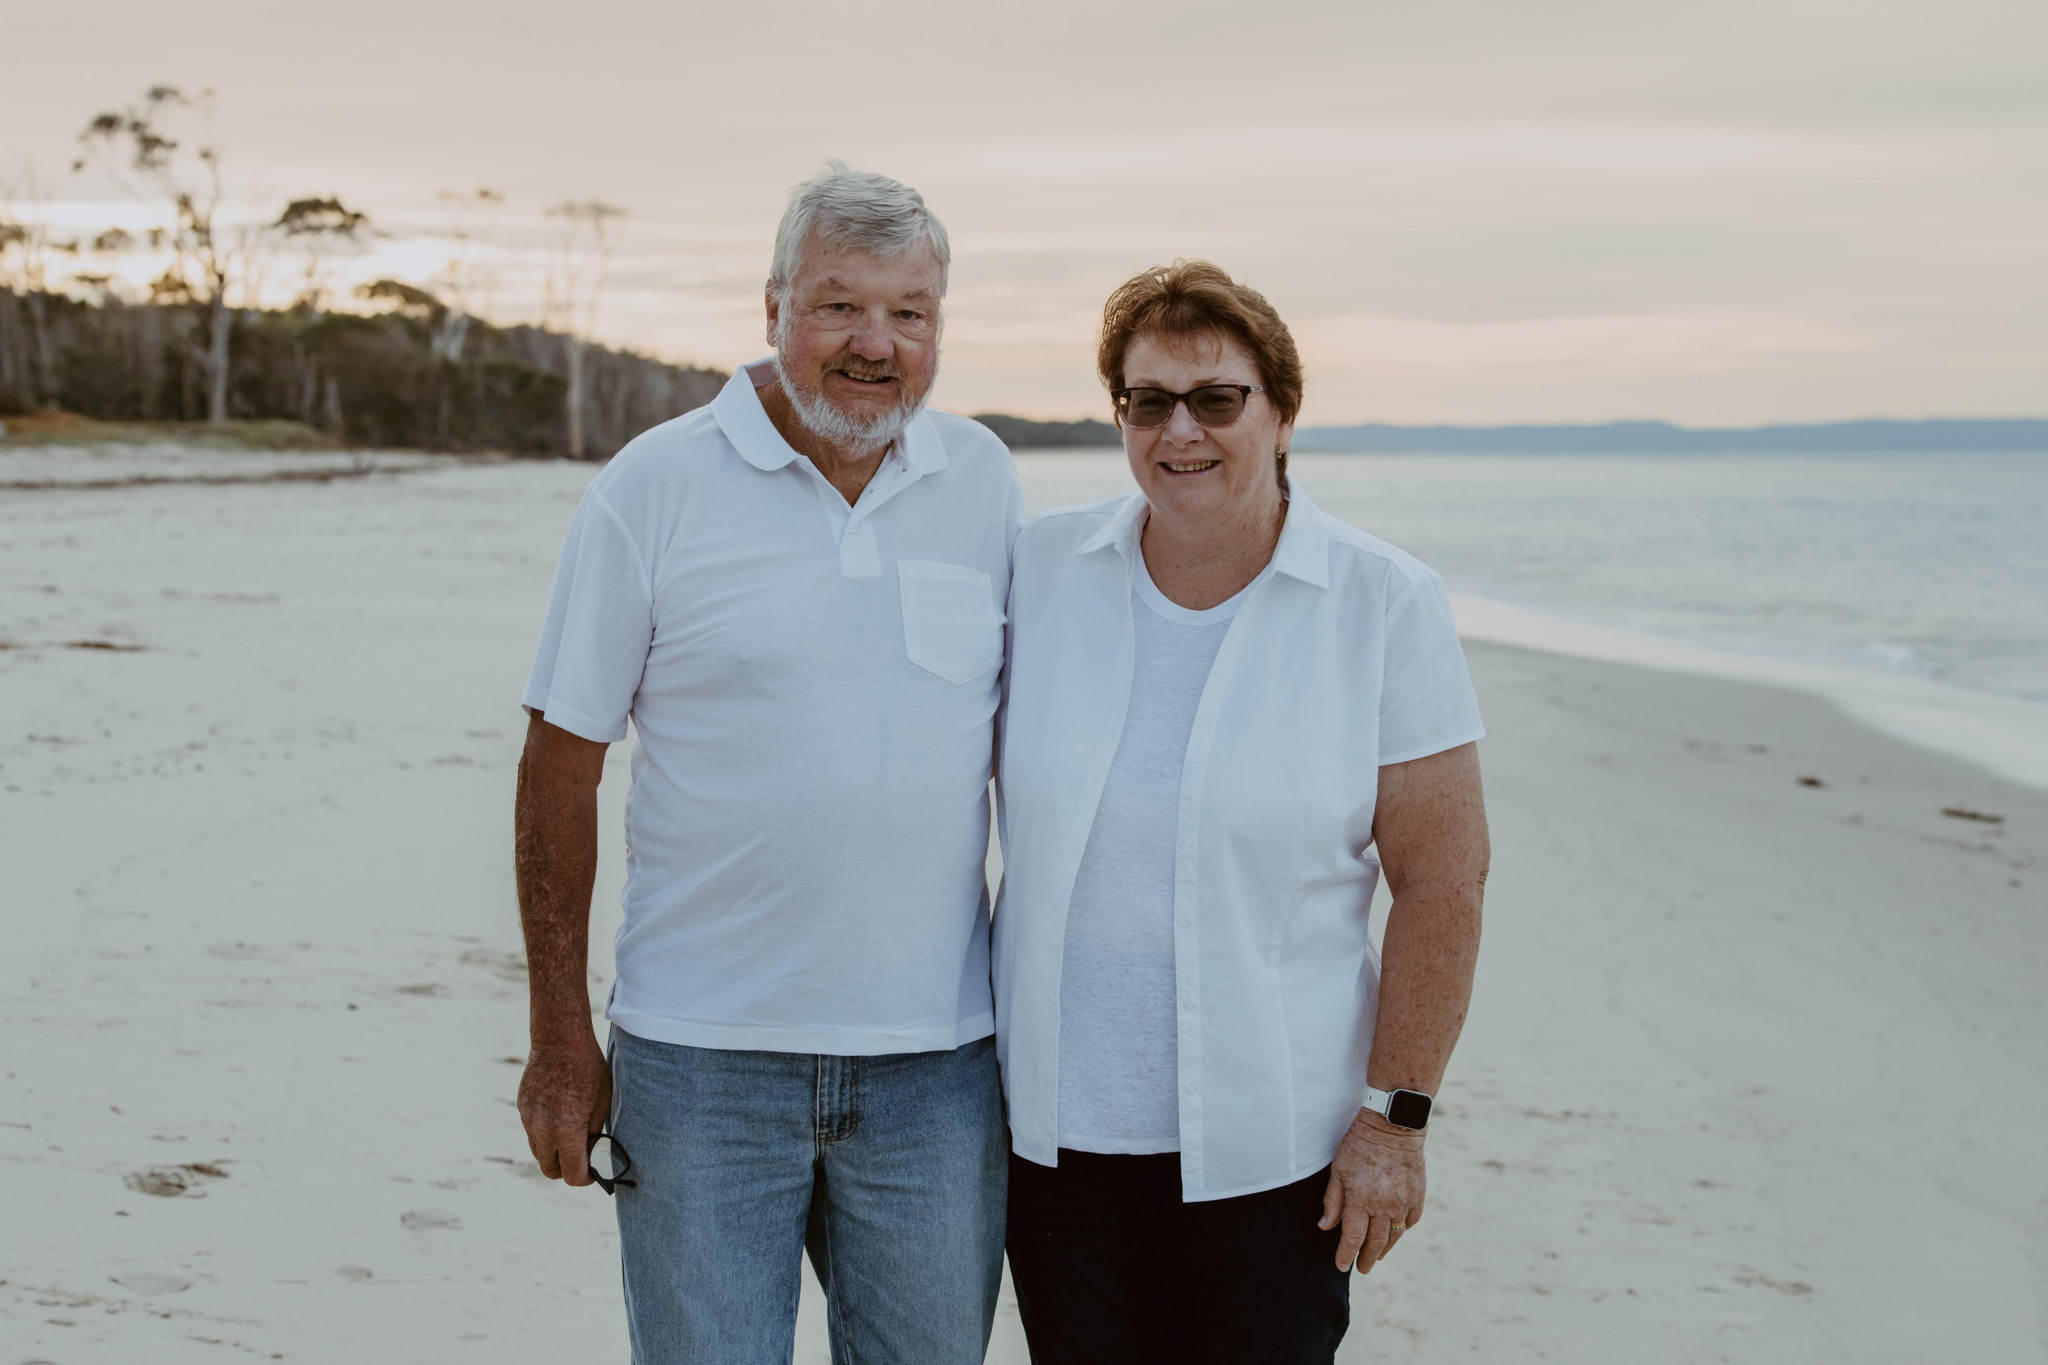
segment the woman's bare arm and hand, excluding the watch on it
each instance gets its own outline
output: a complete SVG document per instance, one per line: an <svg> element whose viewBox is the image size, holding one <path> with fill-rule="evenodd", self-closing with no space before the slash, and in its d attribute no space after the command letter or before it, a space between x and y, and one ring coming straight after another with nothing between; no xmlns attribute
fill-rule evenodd
<svg viewBox="0 0 2048 1365"><path fill-rule="evenodd" d="M1487 886L1479 749L1460 745L1380 769L1372 837L1395 902L1386 913L1374 1089L1436 1095L1464 1029ZM1421 1220L1423 1134L1360 1109L1331 1162L1323 1228L1343 1224L1337 1267L1362 1273Z"/></svg>

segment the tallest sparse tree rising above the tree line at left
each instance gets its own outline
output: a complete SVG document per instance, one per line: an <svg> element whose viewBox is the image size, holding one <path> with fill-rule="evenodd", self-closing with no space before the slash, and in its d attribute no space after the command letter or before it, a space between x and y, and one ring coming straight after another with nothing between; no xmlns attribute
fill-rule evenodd
<svg viewBox="0 0 2048 1365"><path fill-rule="evenodd" d="M172 219L156 241L170 248L172 266L156 280L152 297L190 299L207 311L207 348L195 348L195 356L207 377L207 422L225 422L233 332L227 289L248 241L221 223L227 194L213 135L213 92L186 96L176 86L152 86L139 102L94 117L78 143L74 172L98 164L137 199L168 201Z"/></svg>

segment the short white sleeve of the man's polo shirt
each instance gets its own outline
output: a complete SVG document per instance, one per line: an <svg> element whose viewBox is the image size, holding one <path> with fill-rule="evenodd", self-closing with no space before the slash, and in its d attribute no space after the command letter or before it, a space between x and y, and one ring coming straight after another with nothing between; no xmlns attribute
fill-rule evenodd
<svg viewBox="0 0 2048 1365"><path fill-rule="evenodd" d="M520 704L598 743L627 737L653 641L647 561L602 493L584 493L555 567L541 649Z"/></svg>

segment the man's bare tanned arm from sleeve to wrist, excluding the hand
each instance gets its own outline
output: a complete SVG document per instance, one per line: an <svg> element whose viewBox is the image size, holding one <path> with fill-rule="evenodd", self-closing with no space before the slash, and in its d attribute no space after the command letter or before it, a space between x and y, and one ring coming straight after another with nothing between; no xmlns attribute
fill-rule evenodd
<svg viewBox="0 0 2048 1365"><path fill-rule="evenodd" d="M580 741L586 743L586 741ZM528 741L512 819L535 1044L590 1029L590 888L598 876L598 788L588 755Z"/></svg>

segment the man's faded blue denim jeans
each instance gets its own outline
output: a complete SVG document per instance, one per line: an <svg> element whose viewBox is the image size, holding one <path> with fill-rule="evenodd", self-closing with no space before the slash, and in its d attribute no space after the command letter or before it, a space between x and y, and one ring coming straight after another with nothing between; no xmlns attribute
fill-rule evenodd
<svg viewBox="0 0 2048 1365"><path fill-rule="evenodd" d="M612 1029L633 1365L788 1365L799 1257L834 1365L981 1365L1004 1265L995 1040L813 1056Z"/></svg>

